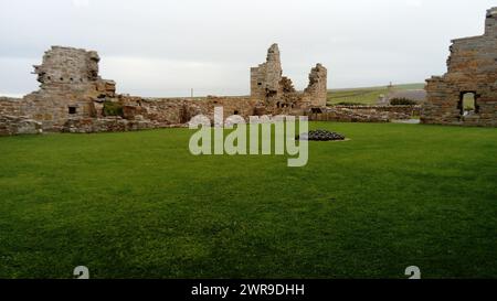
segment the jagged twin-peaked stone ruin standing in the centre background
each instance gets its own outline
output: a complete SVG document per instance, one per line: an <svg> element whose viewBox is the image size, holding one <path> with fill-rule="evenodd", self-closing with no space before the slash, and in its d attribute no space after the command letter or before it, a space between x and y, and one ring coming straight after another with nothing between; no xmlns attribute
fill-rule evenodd
<svg viewBox="0 0 497 301"><path fill-rule="evenodd" d="M267 50L265 63L251 68L251 97L263 99L273 114L326 107L327 92L327 69L321 64L310 71L307 88L296 92L292 79L283 76L277 44Z"/></svg>

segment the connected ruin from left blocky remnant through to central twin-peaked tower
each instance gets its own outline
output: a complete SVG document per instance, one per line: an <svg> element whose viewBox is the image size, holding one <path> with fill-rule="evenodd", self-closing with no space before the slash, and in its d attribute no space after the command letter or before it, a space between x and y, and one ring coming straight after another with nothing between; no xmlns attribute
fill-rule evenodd
<svg viewBox="0 0 497 301"><path fill-rule="evenodd" d="M98 132L184 126L191 117L304 115L309 106L326 106L326 68L318 64L309 86L298 93L282 77L279 51L274 44L267 62L252 68L256 80L247 97L144 98L116 94L116 83L98 75L98 54L52 46L34 74L40 89L23 98L0 97L0 135L40 131ZM257 85L261 83L261 85ZM264 88L262 88L264 87ZM110 109L109 109L110 108ZM292 111L289 111L292 109Z"/></svg>

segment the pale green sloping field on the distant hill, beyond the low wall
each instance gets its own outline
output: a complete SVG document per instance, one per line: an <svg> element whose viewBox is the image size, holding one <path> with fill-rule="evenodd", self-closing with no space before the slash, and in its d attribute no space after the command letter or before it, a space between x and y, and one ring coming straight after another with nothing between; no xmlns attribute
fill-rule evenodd
<svg viewBox="0 0 497 301"><path fill-rule="evenodd" d="M404 84L393 86L393 90L405 89L422 89L424 84ZM387 86L350 88L350 89L331 89L328 90L328 105L336 105L339 103L360 103L364 105L373 105L377 103L380 95L388 95L389 88Z"/></svg>

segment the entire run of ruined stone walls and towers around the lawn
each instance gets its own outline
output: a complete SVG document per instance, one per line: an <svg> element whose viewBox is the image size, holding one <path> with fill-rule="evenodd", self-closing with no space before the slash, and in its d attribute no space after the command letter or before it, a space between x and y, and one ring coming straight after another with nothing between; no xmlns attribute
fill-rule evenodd
<svg viewBox="0 0 497 301"><path fill-rule="evenodd" d="M34 74L40 89L23 98L0 97L0 135L41 131L98 132L184 126L191 117L307 115L310 120L389 121L410 118L416 108L326 107L327 69L317 64L309 84L297 92L283 76L279 50L273 44L266 62L251 68L247 97L144 98L116 94L116 84L98 75L98 54L52 46ZM427 79L424 123L497 126L497 8L487 11L485 33L453 41L448 71ZM465 95L474 108L465 110ZM392 109L394 108L394 109Z"/></svg>

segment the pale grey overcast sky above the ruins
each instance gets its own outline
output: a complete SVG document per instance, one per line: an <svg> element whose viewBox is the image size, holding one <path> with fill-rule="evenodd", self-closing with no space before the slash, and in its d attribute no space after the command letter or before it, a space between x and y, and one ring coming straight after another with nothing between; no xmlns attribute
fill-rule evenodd
<svg viewBox="0 0 497 301"><path fill-rule="evenodd" d="M35 90L51 45L95 50L101 75L140 96L246 95L278 43L296 88L421 83L446 71L451 39L484 31L488 0L0 0L0 95Z"/></svg>

